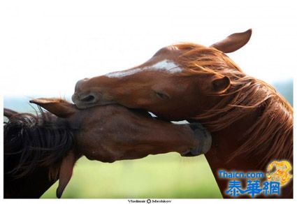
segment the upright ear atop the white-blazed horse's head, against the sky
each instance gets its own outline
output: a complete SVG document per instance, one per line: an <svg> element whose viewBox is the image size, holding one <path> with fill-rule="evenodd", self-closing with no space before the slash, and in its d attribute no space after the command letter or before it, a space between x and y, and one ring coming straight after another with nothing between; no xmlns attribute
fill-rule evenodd
<svg viewBox="0 0 297 204"><path fill-rule="evenodd" d="M210 47L216 48L225 53L234 52L247 44L249 38L252 36L252 29L248 29L245 32L232 34L226 37L223 41L219 41Z"/></svg>

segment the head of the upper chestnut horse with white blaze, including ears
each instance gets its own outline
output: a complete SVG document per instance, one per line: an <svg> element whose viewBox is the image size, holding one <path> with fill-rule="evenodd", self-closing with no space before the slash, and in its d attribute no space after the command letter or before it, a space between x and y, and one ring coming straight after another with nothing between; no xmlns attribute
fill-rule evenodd
<svg viewBox="0 0 297 204"><path fill-rule="evenodd" d="M217 95L229 89L229 77L212 68L234 66L224 52L238 50L251 34L251 29L232 34L210 47L186 43L162 48L140 66L78 81L72 100L81 109L119 103L166 119L189 118L211 108Z"/></svg>

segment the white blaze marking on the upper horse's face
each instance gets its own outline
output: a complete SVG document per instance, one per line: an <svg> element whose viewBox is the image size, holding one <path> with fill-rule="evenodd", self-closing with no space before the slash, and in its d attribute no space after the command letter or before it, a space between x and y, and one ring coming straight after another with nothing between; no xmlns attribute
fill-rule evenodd
<svg viewBox="0 0 297 204"><path fill-rule="evenodd" d="M116 71L106 74L108 78L122 78L127 75L133 75L142 71L167 71L168 73L180 73L182 68L175 64L173 61L164 59L162 61L153 64L152 66L144 66L140 68L133 68L125 71Z"/></svg>

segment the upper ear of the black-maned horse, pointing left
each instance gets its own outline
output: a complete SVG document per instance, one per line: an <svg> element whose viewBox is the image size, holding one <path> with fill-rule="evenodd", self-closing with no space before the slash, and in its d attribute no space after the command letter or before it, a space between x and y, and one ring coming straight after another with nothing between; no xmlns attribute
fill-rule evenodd
<svg viewBox="0 0 297 204"><path fill-rule="evenodd" d="M40 105L45 110L52 112L52 114L57 115L57 117L70 117L73 115L78 109L75 107L74 104L68 103L62 99L33 99L30 103L35 103L36 105Z"/></svg>

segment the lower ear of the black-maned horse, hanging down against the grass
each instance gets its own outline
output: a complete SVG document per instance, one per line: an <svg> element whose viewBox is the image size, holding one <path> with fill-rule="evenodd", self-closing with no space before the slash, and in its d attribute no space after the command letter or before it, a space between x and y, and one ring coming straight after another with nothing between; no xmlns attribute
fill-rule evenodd
<svg viewBox="0 0 297 204"><path fill-rule="evenodd" d="M61 198L64 189L71 179L73 173L73 167L76 161L76 156L73 151L70 151L67 156L64 157L59 170L59 186L56 191L57 198Z"/></svg>

